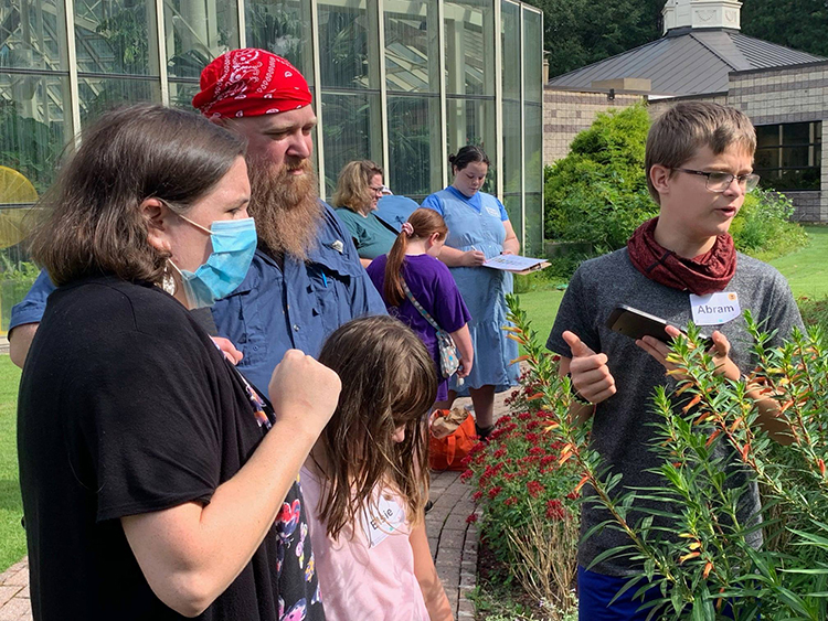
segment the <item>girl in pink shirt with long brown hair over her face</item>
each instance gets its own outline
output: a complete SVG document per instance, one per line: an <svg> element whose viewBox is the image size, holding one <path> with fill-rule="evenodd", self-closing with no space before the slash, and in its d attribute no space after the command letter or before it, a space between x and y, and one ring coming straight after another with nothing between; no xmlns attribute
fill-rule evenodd
<svg viewBox="0 0 828 621"><path fill-rule="evenodd" d="M452 619L425 533L424 415L437 377L400 321L353 320L319 362L344 378L339 405L301 472L327 619Z"/></svg>

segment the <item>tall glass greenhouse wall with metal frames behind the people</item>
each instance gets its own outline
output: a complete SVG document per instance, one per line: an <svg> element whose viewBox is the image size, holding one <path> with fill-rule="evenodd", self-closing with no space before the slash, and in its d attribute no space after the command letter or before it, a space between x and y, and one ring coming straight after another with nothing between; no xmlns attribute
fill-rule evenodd
<svg viewBox="0 0 828 621"><path fill-rule="evenodd" d="M370 158L420 202L450 182L449 152L480 144L487 191L539 253L542 34L542 13L510 0L0 0L0 233L103 110L190 107L210 60L257 46L311 86L322 197L346 162ZM3 189L21 175L28 193ZM0 255L15 260L17 246Z"/></svg>

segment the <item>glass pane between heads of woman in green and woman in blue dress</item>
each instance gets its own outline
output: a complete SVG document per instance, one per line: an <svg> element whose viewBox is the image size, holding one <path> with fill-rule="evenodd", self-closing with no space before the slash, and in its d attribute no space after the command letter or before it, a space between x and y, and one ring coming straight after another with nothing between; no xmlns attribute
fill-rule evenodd
<svg viewBox="0 0 828 621"><path fill-rule="evenodd" d="M439 141L437 97L389 97L391 162L385 182L394 194L420 202L442 189Z"/></svg>

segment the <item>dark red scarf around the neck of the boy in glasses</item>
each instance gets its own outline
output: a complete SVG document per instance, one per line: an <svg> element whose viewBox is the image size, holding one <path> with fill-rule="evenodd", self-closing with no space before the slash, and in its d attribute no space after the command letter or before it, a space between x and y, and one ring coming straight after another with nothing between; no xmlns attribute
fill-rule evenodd
<svg viewBox="0 0 828 621"><path fill-rule="evenodd" d="M736 271L736 250L728 233L715 238L703 255L686 259L660 246L655 238L658 218L636 228L627 242L629 260L650 280L697 296L722 291Z"/></svg>

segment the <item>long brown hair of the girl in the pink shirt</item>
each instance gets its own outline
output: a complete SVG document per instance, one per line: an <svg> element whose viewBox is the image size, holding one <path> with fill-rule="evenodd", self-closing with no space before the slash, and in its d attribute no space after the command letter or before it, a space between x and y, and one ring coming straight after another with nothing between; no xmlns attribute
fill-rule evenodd
<svg viewBox="0 0 828 621"><path fill-rule="evenodd" d="M339 405L319 436L327 481L315 508L328 535L336 539L355 524L378 486L399 493L416 524L428 497L426 415L437 397L432 356L402 322L376 315L337 329L319 362L342 378ZM400 427L405 439L395 442Z"/></svg>

